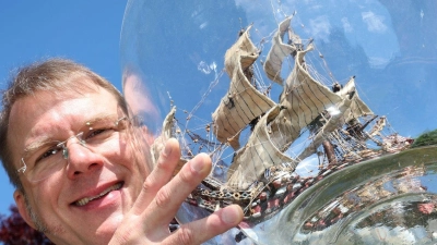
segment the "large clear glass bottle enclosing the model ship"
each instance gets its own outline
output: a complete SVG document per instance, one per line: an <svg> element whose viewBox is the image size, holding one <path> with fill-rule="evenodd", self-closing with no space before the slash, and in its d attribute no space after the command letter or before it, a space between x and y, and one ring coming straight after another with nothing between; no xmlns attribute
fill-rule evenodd
<svg viewBox="0 0 437 245"><path fill-rule="evenodd" d="M411 233L437 186L433 149L403 151L437 119L436 8L129 1L125 94L149 119L147 142L156 154L162 139L177 137L180 164L201 151L214 162L179 221L236 203L246 211L244 233L218 244L391 243ZM417 220L382 222L402 210ZM414 241L432 241L429 225L422 228Z"/></svg>

